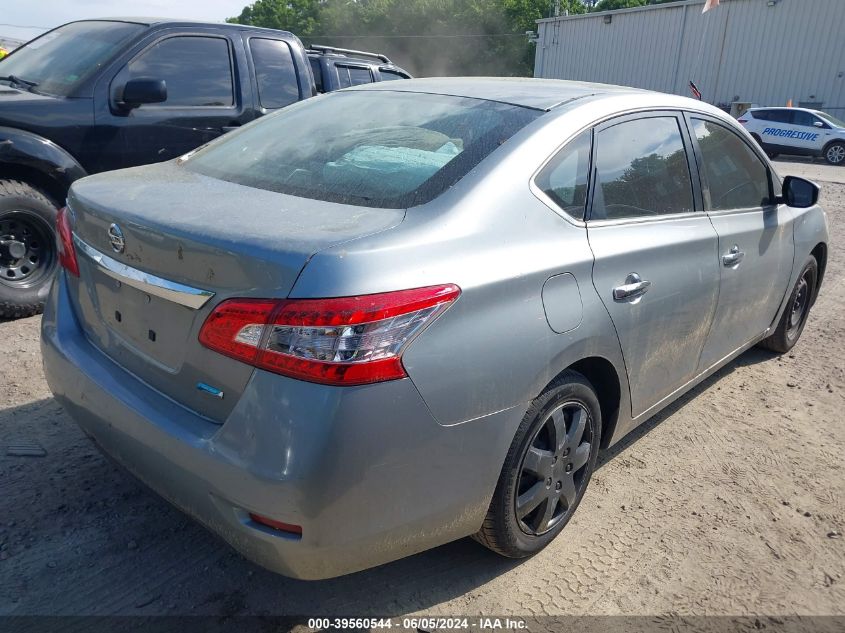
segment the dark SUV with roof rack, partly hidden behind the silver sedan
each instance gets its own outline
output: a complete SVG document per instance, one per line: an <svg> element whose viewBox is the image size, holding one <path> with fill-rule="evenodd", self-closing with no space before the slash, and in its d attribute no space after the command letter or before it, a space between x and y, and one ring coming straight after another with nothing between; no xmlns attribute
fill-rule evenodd
<svg viewBox="0 0 845 633"><path fill-rule="evenodd" d="M308 49L308 59L317 92L331 92L375 81L411 78L407 71L380 53L314 45Z"/></svg>

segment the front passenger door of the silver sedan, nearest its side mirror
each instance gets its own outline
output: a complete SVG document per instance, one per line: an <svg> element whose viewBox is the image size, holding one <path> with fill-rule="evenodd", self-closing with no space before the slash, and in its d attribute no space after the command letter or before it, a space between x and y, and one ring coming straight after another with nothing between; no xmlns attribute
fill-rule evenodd
<svg viewBox="0 0 845 633"><path fill-rule="evenodd" d="M774 203L768 163L746 139L715 118L688 116L705 209L719 236L719 301L703 371L772 324L792 271L792 212Z"/></svg>

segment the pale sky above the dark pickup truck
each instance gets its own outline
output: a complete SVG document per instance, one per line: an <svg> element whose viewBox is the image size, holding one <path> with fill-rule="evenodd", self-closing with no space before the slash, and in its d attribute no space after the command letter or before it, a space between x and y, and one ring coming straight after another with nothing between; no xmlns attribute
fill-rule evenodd
<svg viewBox="0 0 845 633"><path fill-rule="evenodd" d="M0 37L29 40L71 20L115 16L155 16L222 22L239 15L253 0L0 0Z"/></svg>

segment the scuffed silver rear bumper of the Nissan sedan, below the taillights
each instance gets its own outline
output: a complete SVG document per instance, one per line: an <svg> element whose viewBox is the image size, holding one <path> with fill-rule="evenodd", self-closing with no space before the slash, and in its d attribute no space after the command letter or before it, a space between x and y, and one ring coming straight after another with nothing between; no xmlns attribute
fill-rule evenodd
<svg viewBox="0 0 845 633"><path fill-rule="evenodd" d="M217 425L91 345L67 293L60 274L42 321L56 399L103 451L258 564L328 578L481 526L520 411L445 427L410 380L338 388L256 371Z"/></svg>

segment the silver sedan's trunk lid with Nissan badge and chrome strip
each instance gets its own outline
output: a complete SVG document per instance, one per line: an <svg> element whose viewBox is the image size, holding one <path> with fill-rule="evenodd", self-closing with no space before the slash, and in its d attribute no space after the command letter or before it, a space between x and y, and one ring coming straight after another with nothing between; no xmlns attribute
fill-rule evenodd
<svg viewBox="0 0 845 633"><path fill-rule="evenodd" d="M216 422L253 370L199 344L211 309L230 297L285 297L313 253L404 217L252 189L175 163L78 181L68 206L80 265L71 294L88 338Z"/></svg>

